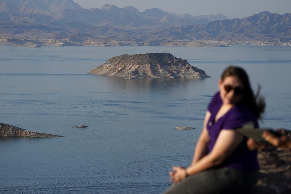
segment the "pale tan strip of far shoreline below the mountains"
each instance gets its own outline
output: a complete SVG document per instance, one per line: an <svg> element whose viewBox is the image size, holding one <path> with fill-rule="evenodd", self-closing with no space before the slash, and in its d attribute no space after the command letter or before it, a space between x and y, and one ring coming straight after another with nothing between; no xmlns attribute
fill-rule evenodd
<svg viewBox="0 0 291 194"><path fill-rule="evenodd" d="M228 41L228 40L140 40L140 41L116 41L103 38L92 38L81 42L74 42L68 38L63 39L41 39L21 38L0 35L0 45L13 47L40 48L42 46L185 46L185 47L228 47L233 45L260 45L260 46L291 46L291 42L265 42L265 41Z"/></svg>

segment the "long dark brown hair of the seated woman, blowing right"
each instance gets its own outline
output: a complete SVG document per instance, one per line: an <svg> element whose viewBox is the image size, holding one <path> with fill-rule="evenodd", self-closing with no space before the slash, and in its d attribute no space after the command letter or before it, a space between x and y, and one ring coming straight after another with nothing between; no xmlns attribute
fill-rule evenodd
<svg viewBox="0 0 291 194"><path fill-rule="evenodd" d="M228 76L236 76L240 79L241 82L243 82L244 92L242 96L242 102L253 111L257 118L261 118L261 113L264 112L266 104L264 98L259 95L260 86L256 95L254 95L249 83L248 75L246 74L245 70L239 67L229 66L226 68L221 75L222 81Z"/></svg>

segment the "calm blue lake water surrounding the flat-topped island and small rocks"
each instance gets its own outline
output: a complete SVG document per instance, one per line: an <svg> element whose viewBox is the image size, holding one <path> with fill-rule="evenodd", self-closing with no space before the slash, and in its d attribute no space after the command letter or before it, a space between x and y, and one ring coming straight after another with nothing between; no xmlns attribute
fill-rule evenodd
<svg viewBox="0 0 291 194"><path fill-rule="evenodd" d="M212 78L86 74L112 56L148 52L187 59ZM229 65L246 69L254 90L262 86L261 126L290 129L291 47L0 46L0 122L65 136L0 138L0 193L162 193L171 166L191 163ZM71 127L82 124L89 128Z"/></svg>

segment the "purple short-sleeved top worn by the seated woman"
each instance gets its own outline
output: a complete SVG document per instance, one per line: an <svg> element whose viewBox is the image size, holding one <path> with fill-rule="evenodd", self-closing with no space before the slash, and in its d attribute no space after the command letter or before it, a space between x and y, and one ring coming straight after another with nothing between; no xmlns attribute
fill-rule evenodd
<svg viewBox="0 0 291 194"><path fill-rule="evenodd" d="M238 103L234 105L225 115L220 117L217 122L215 122L215 116L222 105L222 100L220 98L219 92L216 93L210 104L208 105L208 111L211 113L207 124L207 130L210 137L210 142L208 144L208 152L211 152L219 132L222 129L235 129L242 127L249 121L252 121L255 127L258 127L258 122L256 116L253 112L244 104ZM257 161L257 152L249 151L246 145L247 138L244 137L243 142L232 152L232 154L219 166L228 167L232 169L242 170L242 171L256 171L259 169Z"/></svg>

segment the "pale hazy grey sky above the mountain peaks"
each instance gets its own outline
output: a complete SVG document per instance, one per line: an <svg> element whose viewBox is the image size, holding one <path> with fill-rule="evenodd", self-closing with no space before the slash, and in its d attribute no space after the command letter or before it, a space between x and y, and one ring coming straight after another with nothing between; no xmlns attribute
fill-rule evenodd
<svg viewBox="0 0 291 194"><path fill-rule="evenodd" d="M104 4L125 7L132 5L140 12L160 8L165 12L193 16L222 14L228 18L244 18L262 11L290 13L291 0L73 0L83 8L101 8Z"/></svg>

